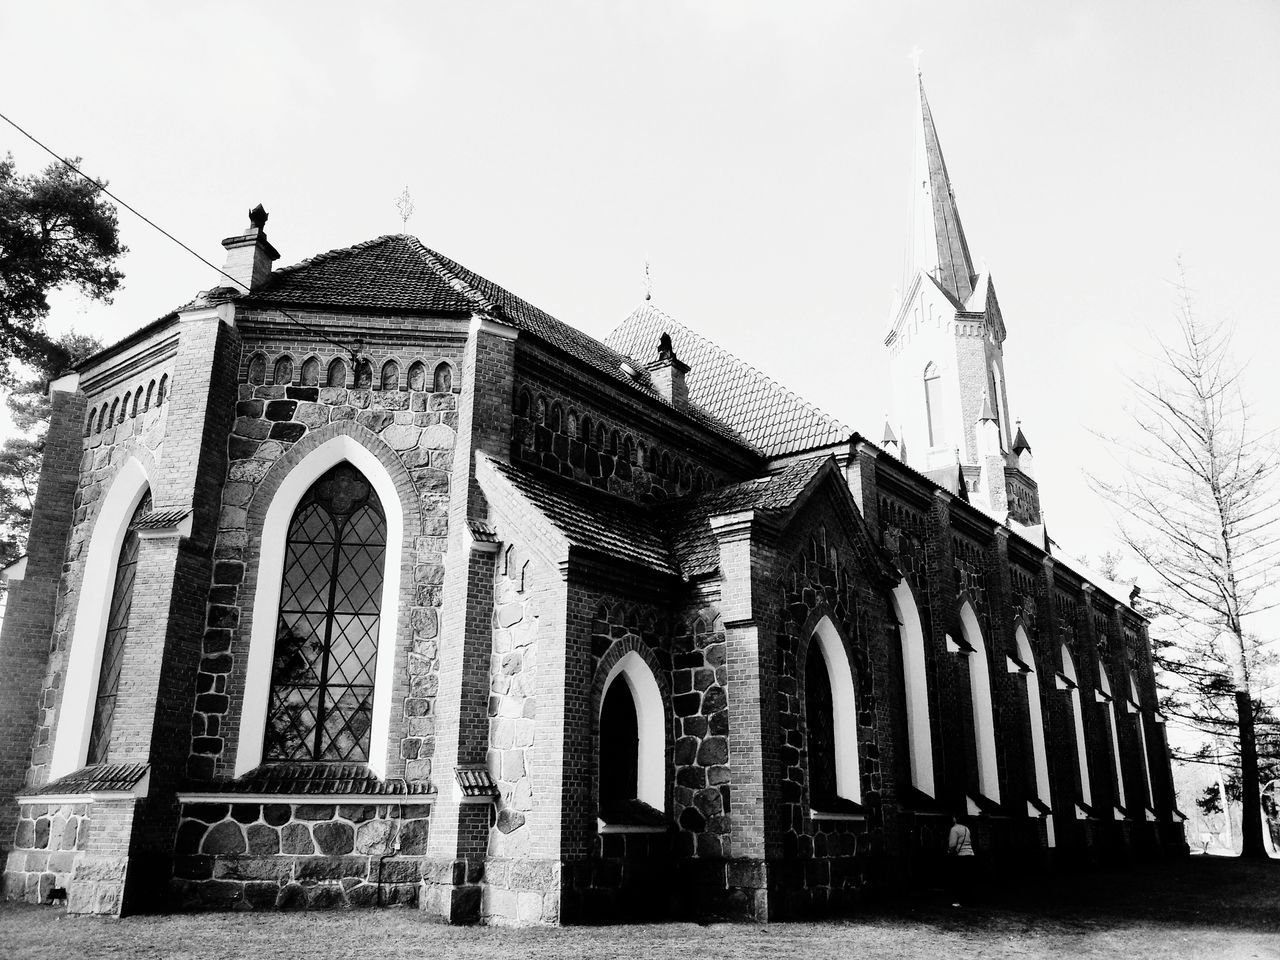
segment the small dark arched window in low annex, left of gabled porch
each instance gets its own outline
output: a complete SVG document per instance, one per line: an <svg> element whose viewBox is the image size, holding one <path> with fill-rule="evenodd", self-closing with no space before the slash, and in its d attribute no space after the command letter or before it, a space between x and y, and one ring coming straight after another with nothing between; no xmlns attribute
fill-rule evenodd
<svg viewBox="0 0 1280 960"><path fill-rule="evenodd" d="M600 698L600 819L627 818L636 800L666 808L666 727L662 691L635 650L609 671Z"/></svg>

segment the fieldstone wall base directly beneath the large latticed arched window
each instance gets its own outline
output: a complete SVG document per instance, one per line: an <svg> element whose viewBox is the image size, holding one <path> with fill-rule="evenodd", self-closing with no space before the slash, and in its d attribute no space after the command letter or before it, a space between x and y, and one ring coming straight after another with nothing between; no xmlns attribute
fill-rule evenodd
<svg viewBox="0 0 1280 960"><path fill-rule="evenodd" d="M397 803L184 804L175 906L416 906L430 814Z"/></svg>

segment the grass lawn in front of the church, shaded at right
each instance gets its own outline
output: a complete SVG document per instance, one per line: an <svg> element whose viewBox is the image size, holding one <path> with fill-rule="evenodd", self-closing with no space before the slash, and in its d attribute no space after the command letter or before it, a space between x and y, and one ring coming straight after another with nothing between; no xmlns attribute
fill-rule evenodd
<svg viewBox="0 0 1280 960"><path fill-rule="evenodd" d="M1280 861L1193 856L1128 873L1057 877L989 891L952 909L941 896L829 923L654 924L507 931L430 923L413 910L67 918L0 905L0 957L1277 957Z"/></svg>

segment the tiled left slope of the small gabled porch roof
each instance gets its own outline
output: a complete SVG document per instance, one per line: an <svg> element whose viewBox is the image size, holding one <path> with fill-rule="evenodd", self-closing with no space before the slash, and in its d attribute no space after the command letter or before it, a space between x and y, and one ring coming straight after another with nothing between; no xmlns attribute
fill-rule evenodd
<svg viewBox="0 0 1280 960"><path fill-rule="evenodd" d="M719 566L719 543L708 522L710 517L748 509L786 509L828 461L829 457L796 461L781 472L658 507L681 572L692 579Z"/></svg>

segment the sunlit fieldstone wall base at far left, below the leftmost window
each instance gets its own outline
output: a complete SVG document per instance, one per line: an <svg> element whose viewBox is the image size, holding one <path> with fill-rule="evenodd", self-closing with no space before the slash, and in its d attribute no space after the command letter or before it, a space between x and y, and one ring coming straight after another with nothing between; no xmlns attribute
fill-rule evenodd
<svg viewBox="0 0 1280 960"><path fill-rule="evenodd" d="M4 872L4 899L44 904L67 890L88 846L90 804L22 804Z"/></svg>

